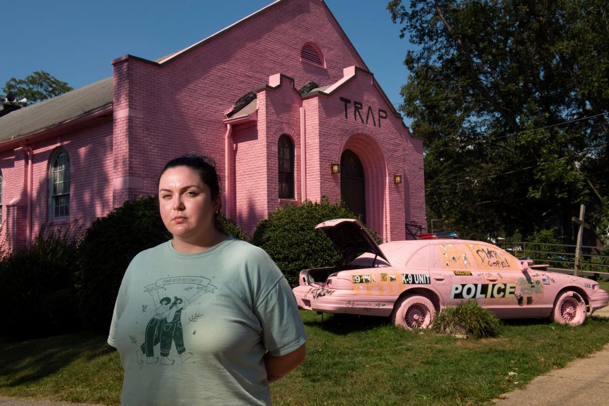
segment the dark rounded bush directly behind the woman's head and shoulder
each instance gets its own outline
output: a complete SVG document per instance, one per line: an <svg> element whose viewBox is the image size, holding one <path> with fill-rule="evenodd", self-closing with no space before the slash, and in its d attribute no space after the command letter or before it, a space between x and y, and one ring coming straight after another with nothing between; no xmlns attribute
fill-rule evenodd
<svg viewBox="0 0 609 406"><path fill-rule="evenodd" d="M228 235L245 239L232 220L220 215ZM172 236L161 220L156 196L136 197L95 220L80 243L74 270L80 315L85 326L107 331L122 276L140 251Z"/></svg>

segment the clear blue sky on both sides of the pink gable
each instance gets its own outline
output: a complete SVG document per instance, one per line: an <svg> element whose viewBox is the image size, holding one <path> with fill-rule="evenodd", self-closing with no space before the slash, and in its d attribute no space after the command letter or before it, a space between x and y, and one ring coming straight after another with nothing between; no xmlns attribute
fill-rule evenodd
<svg viewBox="0 0 609 406"><path fill-rule="evenodd" d="M155 60L229 26L272 0L26 0L2 4L0 89L47 71L74 88L112 74L125 54ZM407 38L388 0L325 0L395 107L406 83ZM404 122L410 124L405 118Z"/></svg>

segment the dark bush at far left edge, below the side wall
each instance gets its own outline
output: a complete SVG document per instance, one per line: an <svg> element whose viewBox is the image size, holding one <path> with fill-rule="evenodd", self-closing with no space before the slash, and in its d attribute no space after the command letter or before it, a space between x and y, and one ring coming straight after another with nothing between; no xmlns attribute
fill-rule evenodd
<svg viewBox="0 0 609 406"><path fill-rule="evenodd" d="M43 226L32 247L6 253L0 261L0 297L5 306L4 334L12 338L46 337L76 331L75 290L71 266L76 262L81 228Z"/></svg>

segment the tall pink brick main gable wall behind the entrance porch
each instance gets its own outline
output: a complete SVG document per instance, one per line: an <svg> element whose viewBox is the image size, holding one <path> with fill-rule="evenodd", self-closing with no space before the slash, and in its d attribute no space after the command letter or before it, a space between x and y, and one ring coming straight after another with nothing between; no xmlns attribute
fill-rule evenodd
<svg viewBox="0 0 609 406"><path fill-rule="evenodd" d="M320 46L327 68L300 60L301 46L309 41ZM216 159L224 179L222 119L239 97L280 72L294 77L297 87L311 80L329 85L342 77L343 66L350 65L364 63L319 0L276 4L163 66L136 58L116 61L114 111L128 107L143 114L114 123L115 177L144 181L143 190L130 190L125 196L154 193L163 164L191 151ZM265 125L259 122L259 137ZM271 132L276 130L273 125ZM266 160L263 163L267 165ZM261 187L268 192L276 185ZM114 205L119 203L121 199L114 198Z"/></svg>

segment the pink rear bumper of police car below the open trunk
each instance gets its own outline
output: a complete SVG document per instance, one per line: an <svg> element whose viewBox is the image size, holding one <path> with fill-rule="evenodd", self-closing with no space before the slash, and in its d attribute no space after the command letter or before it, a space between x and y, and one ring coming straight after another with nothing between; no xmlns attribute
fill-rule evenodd
<svg viewBox="0 0 609 406"><path fill-rule="evenodd" d="M389 316L395 297L354 295L353 290L327 289L320 285L300 285L292 289L298 307L325 313Z"/></svg>

